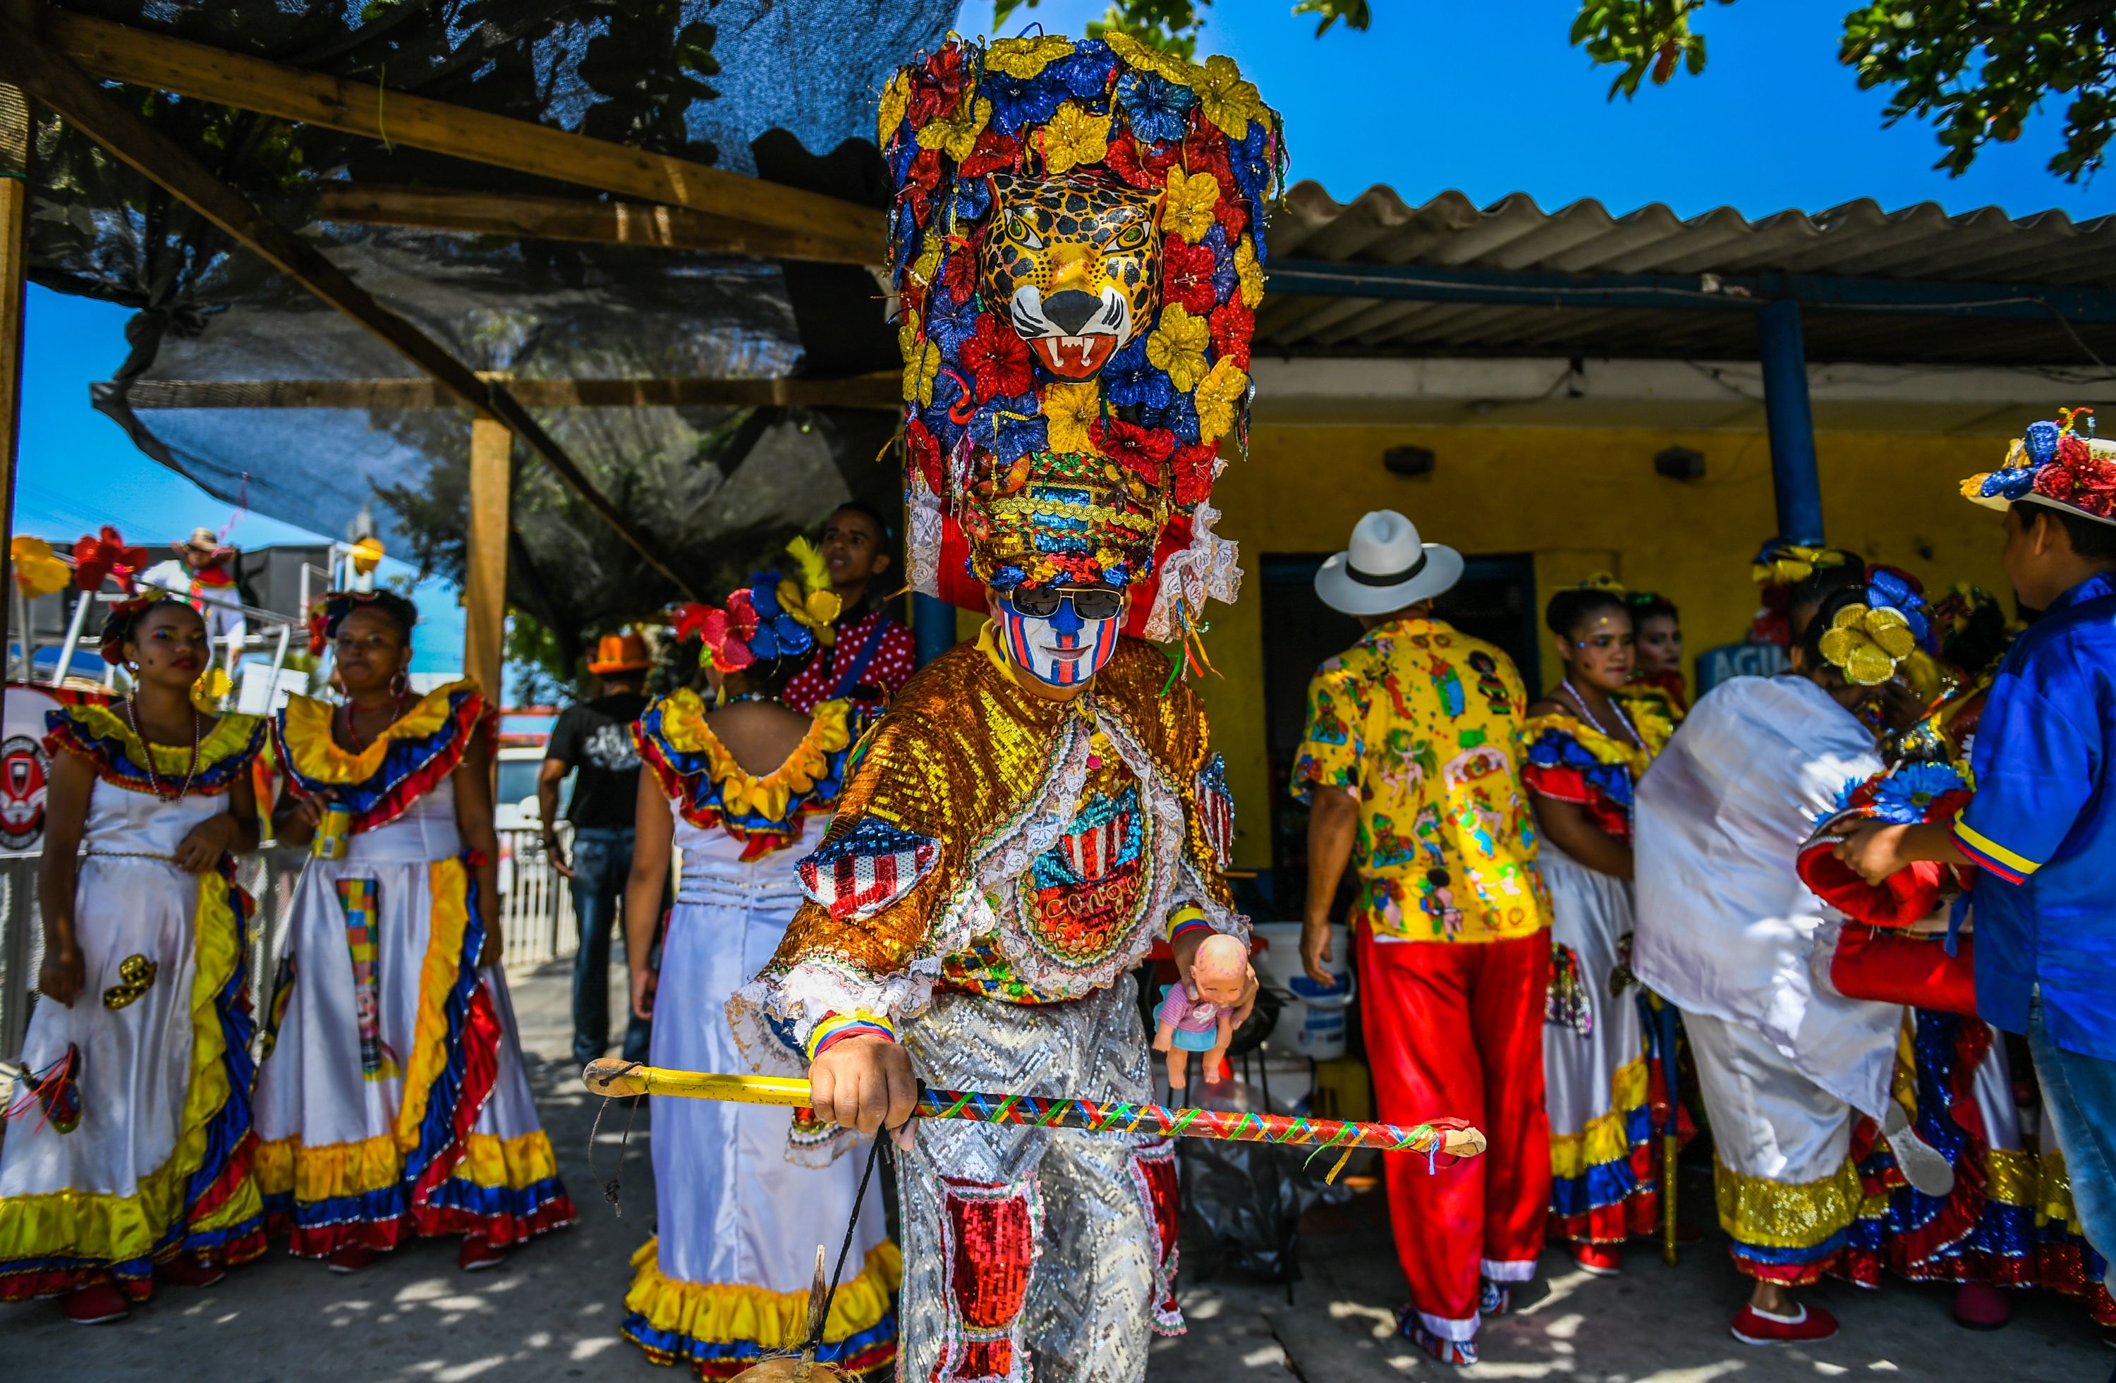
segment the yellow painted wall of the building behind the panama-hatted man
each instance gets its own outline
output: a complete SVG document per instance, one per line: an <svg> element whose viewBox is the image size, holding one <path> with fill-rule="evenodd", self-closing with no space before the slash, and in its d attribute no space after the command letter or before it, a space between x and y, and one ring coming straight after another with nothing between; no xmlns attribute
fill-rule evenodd
<svg viewBox="0 0 2116 1383"><path fill-rule="evenodd" d="M1430 476L1382 469L1390 446L1426 446ZM1655 453L1689 446L1705 478L1663 480ZM2000 516L1964 501L1962 476L1989 469L2004 442L1822 434L1822 514L1830 543L1913 571L1928 586L2004 590ZM1748 558L1777 531L1763 434L1534 427L1261 425L1251 455L1215 486L1219 531L1259 571L1265 552L1335 552L1367 510L1401 510L1426 541L1462 552L1532 552L1536 609L1595 569L1682 607L1689 651L1737 641L1756 609ZM1255 579L1255 575L1251 577ZM1225 677L1200 685L1236 797L1236 861L1267 867L1263 628L1257 590L1210 611ZM1549 666L1549 658L1545 664Z"/></svg>

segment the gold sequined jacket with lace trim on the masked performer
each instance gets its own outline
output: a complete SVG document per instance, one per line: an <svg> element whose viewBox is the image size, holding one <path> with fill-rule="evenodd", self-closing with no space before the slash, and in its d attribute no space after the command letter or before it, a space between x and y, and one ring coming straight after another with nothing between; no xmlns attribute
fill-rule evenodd
<svg viewBox="0 0 2116 1383"><path fill-rule="evenodd" d="M855 751L779 954L728 1004L749 1055L783 1066L829 1015L901 1024L935 988L1079 998L1187 907L1246 939L1225 770L1198 694L1166 683L1136 639L1071 702L1024 692L990 637L920 670Z"/></svg>

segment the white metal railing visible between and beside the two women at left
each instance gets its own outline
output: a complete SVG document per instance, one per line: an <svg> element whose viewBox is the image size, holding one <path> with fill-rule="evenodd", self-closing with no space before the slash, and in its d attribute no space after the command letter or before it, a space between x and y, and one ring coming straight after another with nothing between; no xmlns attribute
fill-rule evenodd
<svg viewBox="0 0 2116 1383"><path fill-rule="evenodd" d="M271 1002L294 882L307 861L309 852L292 846L271 846L235 861L235 882L256 899L250 918L250 1000L260 1017ZM30 992L44 962L36 865L34 854L0 859L0 1062L13 1062L21 1053L30 1028ZM499 833L499 918L508 966L544 964L578 949L571 892L544 859L537 831Z"/></svg>

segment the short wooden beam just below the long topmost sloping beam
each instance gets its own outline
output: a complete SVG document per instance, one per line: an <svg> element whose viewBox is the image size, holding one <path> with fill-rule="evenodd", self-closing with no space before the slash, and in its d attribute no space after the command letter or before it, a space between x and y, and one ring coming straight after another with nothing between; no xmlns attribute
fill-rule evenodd
<svg viewBox="0 0 2116 1383"><path fill-rule="evenodd" d="M506 235L529 241L705 250L764 260L868 264L876 258L872 247L853 250L844 241L800 230L770 230L755 222L692 211L690 207L664 207L647 201L459 192L455 188L394 188L370 182L322 184L315 197L315 220Z"/></svg>

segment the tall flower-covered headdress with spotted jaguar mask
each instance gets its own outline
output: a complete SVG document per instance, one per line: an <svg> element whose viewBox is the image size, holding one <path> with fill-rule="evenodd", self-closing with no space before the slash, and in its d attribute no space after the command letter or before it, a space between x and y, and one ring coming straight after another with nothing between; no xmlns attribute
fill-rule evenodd
<svg viewBox="0 0 2116 1383"><path fill-rule="evenodd" d="M1121 34L965 44L882 93L912 588L1134 588L1172 639L1234 601L1278 114L1225 57Z"/></svg>

